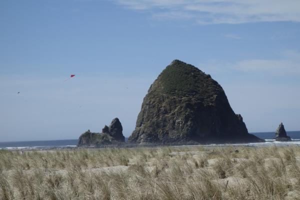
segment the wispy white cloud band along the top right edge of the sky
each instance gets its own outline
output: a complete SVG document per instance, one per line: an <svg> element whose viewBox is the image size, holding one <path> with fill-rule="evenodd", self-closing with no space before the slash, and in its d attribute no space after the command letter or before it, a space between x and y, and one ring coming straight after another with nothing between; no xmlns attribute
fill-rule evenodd
<svg viewBox="0 0 300 200"><path fill-rule="evenodd" d="M192 19L199 24L300 22L299 0L114 0L158 19Z"/></svg>

